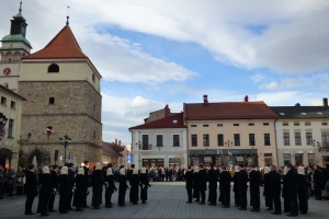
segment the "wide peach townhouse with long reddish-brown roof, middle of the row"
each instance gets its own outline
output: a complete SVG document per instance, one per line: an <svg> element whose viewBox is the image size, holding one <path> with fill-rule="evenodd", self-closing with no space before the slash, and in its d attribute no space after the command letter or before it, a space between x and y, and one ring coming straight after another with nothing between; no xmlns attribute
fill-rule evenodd
<svg viewBox="0 0 329 219"><path fill-rule="evenodd" d="M274 123L263 102L185 103L189 164L276 164Z"/></svg>

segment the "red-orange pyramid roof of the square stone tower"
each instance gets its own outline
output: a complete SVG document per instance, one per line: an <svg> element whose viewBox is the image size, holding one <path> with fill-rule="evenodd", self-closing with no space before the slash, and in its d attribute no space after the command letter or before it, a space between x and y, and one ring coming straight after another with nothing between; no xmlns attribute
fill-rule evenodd
<svg viewBox="0 0 329 219"><path fill-rule="evenodd" d="M23 59L44 58L88 58L81 50L71 28L66 25L45 46L45 48L25 56Z"/></svg>

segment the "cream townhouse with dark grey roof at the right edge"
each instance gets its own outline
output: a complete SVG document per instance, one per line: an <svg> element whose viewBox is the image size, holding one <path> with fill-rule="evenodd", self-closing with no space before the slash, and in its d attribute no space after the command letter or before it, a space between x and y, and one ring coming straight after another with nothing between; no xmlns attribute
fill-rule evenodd
<svg viewBox="0 0 329 219"><path fill-rule="evenodd" d="M322 106L271 106L275 122L279 165L324 165L329 161L328 99Z"/></svg>

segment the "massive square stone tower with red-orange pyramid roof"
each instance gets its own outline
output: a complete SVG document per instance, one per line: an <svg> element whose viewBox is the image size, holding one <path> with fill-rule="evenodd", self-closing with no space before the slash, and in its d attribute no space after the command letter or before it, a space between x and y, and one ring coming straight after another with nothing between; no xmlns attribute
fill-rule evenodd
<svg viewBox="0 0 329 219"><path fill-rule="evenodd" d="M58 151L56 163L64 164L59 158L65 157L65 147L59 138L65 135L71 138L66 162L101 161L100 80L68 22L45 48L22 59L19 93L27 101L21 135L32 134L21 143L27 162L35 154L38 164L54 164Z"/></svg>

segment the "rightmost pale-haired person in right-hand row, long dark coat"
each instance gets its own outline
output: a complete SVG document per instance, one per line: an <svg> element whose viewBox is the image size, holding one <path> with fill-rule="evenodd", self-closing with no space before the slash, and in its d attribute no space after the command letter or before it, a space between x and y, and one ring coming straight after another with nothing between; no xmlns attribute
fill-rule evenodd
<svg viewBox="0 0 329 219"><path fill-rule="evenodd" d="M298 173L299 212L307 214L307 211L308 211L308 191L307 191L307 182L306 182L304 168L298 166L297 173Z"/></svg>

